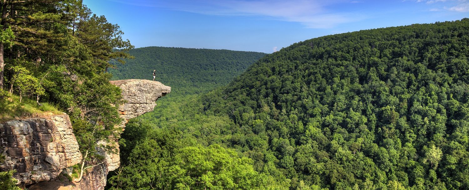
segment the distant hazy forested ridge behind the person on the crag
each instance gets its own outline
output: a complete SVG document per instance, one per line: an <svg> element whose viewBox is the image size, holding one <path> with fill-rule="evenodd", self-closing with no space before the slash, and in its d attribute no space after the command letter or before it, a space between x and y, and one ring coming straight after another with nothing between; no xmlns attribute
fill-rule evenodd
<svg viewBox="0 0 469 190"><path fill-rule="evenodd" d="M250 51L210 50L171 47L132 49L126 64L109 70L113 80L156 80L173 88L173 95L207 92L228 84L265 53Z"/></svg>

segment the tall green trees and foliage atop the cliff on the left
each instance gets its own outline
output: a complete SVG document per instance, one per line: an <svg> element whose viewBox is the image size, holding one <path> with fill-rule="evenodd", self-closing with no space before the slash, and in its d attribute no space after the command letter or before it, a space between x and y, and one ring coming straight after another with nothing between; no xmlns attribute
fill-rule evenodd
<svg viewBox="0 0 469 190"><path fill-rule="evenodd" d="M8 88L9 95L0 93L0 119L62 110L70 116L83 161L102 159L97 148L115 151L97 142L111 142L121 132L114 127L122 121L116 107L122 103L121 89L106 73L111 60L131 57L127 52L133 46L122 39L119 26L93 15L81 0L4 0L1 5L0 47L8 47L0 51L0 88Z"/></svg>

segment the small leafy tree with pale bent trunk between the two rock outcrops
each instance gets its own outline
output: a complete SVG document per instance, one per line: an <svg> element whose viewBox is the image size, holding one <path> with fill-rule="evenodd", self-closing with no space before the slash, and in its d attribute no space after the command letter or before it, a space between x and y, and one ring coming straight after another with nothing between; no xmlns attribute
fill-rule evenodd
<svg viewBox="0 0 469 190"><path fill-rule="evenodd" d="M92 168L103 163L98 150L116 152L115 141L122 129L117 127L122 119L119 117L118 106L124 103L121 88L109 83L111 75L100 73L78 86L77 107L71 110L76 139L83 153L82 169ZM103 143L97 143L103 142ZM101 152L102 154L102 152ZM90 166L85 167L89 163Z"/></svg>

